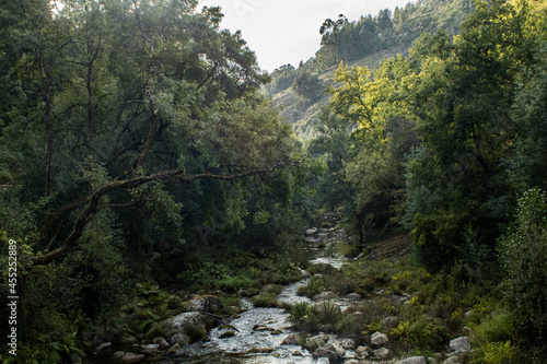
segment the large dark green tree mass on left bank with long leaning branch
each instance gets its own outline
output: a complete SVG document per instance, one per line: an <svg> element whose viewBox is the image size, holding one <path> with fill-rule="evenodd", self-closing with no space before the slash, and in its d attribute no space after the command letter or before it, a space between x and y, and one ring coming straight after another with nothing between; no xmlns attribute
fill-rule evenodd
<svg viewBox="0 0 547 364"><path fill-rule="evenodd" d="M218 8L62 4L0 12L0 249L20 243L21 341L44 363L73 343L77 317L106 317L152 272L181 273L203 232L235 239L248 211L279 215L306 171ZM275 184L291 187L265 192ZM154 266L154 253L178 260Z"/></svg>

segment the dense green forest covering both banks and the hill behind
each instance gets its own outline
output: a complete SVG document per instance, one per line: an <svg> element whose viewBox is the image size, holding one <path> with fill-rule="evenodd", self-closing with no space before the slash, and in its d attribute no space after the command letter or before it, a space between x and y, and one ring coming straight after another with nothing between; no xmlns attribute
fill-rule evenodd
<svg viewBox="0 0 547 364"><path fill-rule="evenodd" d="M406 352L431 350L434 301L446 322L481 305L480 350L466 360L542 363L545 1L426 0L327 19L316 56L272 74L221 28L220 8L197 9L1 0L4 338L18 297L18 355L2 341L2 362L80 363L88 338L153 334L191 293L233 302L295 281L303 232L329 211L356 255L408 235L406 274L449 282L389 331ZM371 57L382 60L363 66ZM312 139L271 101L288 90L316 105Z"/></svg>

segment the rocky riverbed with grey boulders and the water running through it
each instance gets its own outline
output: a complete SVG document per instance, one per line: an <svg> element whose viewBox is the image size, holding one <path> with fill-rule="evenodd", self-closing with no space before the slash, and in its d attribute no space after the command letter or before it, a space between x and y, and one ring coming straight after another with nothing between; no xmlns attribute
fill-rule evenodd
<svg viewBox="0 0 547 364"><path fill-rule="evenodd" d="M331 216L326 215L323 220L331 221ZM344 254L348 250L344 247L352 243L351 236L336 225L309 228L305 240L312 263L340 269L345 262L356 259ZM373 250L368 258L374 259L380 254L386 256L385 251ZM312 298L299 295L299 290L309 284L313 275L302 271L301 281L284 286L277 296L279 306L290 307L305 303L314 310L344 310L357 317L371 301L357 292L340 296L326 291ZM410 303L412 300L408 294L386 295L382 290L375 292L375 297L399 304ZM284 308L255 307L249 297L242 297L241 313L229 318L214 314L222 308L222 303L212 295L194 297L186 306L187 312L161 322L162 336L146 339L142 336L126 334L116 347L110 342L103 342L96 348L92 363L454 364L464 363L472 350L469 338L461 337L451 341L444 353L396 360L385 333L376 331L364 341L356 343L351 337L331 333L333 328L325 325L324 332L307 337L290 325L289 313ZM385 317L385 320L396 321L398 318ZM211 322L214 324L213 328L205 334ZM193 332L197 334L193 336ZM205 339L194 341L193 337Z"/></svg>

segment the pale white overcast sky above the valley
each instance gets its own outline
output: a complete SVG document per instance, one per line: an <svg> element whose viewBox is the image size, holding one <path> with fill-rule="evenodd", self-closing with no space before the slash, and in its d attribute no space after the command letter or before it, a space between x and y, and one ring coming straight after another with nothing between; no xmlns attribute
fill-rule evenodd
<svg viewBox="0 0 547 364"><path fill-rule="evenodd" d="M319 27L344 14L349 21L377 15L382 9L405 7L411 0L201 0L201 5L221 7L222 28L242 31L255 51L258 66L274 71L283 64L298 67L321 46Z"/></svg>

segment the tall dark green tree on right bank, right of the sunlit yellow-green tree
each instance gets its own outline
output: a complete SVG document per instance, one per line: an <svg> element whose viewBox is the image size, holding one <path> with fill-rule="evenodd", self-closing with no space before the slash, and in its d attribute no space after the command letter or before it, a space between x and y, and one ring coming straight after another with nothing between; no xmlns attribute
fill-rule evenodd
<svg viewBox="0 0 547 364"><path fill-rule="evenodd" d="M510 220L513 197L500 161L515 138L510 107L519 70L532 66L535 35L526 28L535 17L526 2L477 2L453 42L439 34L414 50L421 54L414 113L422 146L408 164L407 213L431 268L473 260L469 244L493 259ZM469 228L475 242L466 239Z"/></svg>

